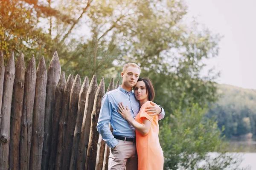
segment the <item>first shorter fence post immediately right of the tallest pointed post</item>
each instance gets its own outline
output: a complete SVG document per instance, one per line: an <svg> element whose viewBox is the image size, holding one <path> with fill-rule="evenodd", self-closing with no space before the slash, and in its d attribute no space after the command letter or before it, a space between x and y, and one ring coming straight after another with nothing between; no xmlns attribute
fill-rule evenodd
<svg viewBox="0 0 256 170"><path fill-rule="evenodd" d="M62 112L62 99L64 94L64 88L66 85L65 72L61 74L61 78L55 90L55 108L52 115L52 146L51 146L51 156L49 160L49 170L55 169L55 159L57 152L57 139L58 139L58 124Z"/></svg>

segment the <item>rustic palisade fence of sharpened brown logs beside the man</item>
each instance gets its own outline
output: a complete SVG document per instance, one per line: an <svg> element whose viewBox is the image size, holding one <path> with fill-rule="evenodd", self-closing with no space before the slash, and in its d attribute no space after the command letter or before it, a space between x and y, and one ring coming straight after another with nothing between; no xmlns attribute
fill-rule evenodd
<svg viewBox="0 0 256 170"><path fill-rule="evenodd" d="M117 88L114 81L108 91ZM102 77L65 78L55 51L48 69L0 52L0 170L107 170L109 149L96 130Z"/></svg>

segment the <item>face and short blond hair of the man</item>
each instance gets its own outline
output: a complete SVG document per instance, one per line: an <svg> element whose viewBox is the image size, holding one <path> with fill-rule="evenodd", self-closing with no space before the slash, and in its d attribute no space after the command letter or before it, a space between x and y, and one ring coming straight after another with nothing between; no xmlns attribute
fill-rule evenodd
<svg viewBox="0 0 256 170"><path fill-rule="evenodd" d="M122 84L124 84L126 87L133 87L136 85L137 80L140 76L140 70L137 67L129 66L125 73L121 73L122 75Z"/></svg>

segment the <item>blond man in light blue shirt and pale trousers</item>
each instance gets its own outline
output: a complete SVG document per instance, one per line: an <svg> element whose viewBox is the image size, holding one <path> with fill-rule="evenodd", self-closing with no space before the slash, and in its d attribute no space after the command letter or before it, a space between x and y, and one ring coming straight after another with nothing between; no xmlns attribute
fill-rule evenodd
<svg viewBox="0 0 256 170"><path fill-rule="evenodd" d="M97 130L102 139L111 147L108 160L109 170L137 170L138 157L135 143L135 129L117 112L118 104L128 106L131 115L135 118L140 111L140 103L134 96L132 88L136 85L140 76L140 67L135 63L124 65L121 76L122 85L119 88L109 91L102 98L102 106L99 113ZM151 115L163 119L163 109L152 102L147 108ZM159 114L160 113L160 114ZM113 128L113 134L109 129L109 122Z"/></svg>

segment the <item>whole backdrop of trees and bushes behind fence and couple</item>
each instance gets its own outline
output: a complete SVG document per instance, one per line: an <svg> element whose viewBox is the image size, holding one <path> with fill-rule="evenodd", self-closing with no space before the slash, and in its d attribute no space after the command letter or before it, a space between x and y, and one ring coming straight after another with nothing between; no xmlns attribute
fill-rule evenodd
<svg viewBox="0 0 256 170"><path fill-rule="evenodd" d="M212 107L205 116L220 96L219 74L202 76L204 61L218 55L221 36L196 20L186 24L186 12L183 0L0 0L0 49L5 60L15 51L16 58L23 52L26 63L32 55L37 63L44 56L47 65L58 51L66 74L104 76L106 86L112 77L121 81L124 63L136 62L166 112L160 121L165 168L195 169L216 151L219 158L201 168L223 169L240 157L227 156L221 133L241 133L223 131L212 118L220 119L221 109ZM255 129L247 117L242 133Z"/></svg>

